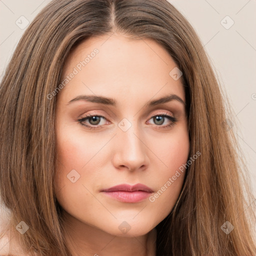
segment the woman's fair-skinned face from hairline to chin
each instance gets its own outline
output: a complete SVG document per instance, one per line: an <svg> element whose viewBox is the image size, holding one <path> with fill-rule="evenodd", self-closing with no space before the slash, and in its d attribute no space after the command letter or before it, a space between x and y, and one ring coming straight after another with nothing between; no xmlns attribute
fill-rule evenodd
<svg viewBox="0 0 256 256"><path fill-rule="evenodd" d="M167 51L151 39L91 37L70 53L55 119L55 191L70 221L138 236L171 211L184 178L176 171L189 152L179 75ZM137 183L150 189L102 191Z"/></svg>

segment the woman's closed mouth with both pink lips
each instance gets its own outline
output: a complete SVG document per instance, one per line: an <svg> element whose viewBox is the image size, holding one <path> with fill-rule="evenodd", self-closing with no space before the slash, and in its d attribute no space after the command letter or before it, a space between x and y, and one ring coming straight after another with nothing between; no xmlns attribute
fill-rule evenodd
<svg viewBox="0 0 256 256"><path fill-rule="evenodd" d="M102 189L101 192L121 202L139 202L147 198L153 190L141 183L135 185L120 184Z"/></svg>

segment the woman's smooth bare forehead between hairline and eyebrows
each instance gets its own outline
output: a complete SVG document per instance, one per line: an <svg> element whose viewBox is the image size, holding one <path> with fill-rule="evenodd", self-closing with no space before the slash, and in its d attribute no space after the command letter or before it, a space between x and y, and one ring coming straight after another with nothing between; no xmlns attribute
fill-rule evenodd
<svg viewBox="0 0 256 256"><path fill-rule="evenodd" d="M152 39L117 34L90 37L69 53L61 81L72 72L75 75L58 96L66 102L78 94L116 96L130 102L172 93L185 101L181 79L169 74L175 67L168 52Z"/></svg>

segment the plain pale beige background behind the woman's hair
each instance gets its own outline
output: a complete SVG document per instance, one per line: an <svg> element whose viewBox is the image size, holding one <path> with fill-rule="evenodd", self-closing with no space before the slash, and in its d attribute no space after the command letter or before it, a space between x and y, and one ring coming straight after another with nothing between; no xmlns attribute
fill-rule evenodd
<svg viewBox="0 0 256 256"><path fill-rule="evenodd" d="M25 30L20 26L49 1L0 0L0 79ZM231 121L238 126L236 135L256 198L256 0L169 1L197 31L232 103L235 116Z"/></svg>

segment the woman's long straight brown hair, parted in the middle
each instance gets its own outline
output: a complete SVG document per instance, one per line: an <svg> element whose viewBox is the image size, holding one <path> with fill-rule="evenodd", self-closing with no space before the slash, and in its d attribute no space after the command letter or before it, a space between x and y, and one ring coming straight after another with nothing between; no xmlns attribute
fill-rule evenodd
<svg viewBox="0 0 256 256"><path fill-rule="evenodd" d="M0 84L0 195L11 211L9 238L24 221L29 229L17 234L25 252L70 255L54 193L56 97L47 95L59 85L72 48L114 32L154 39L176 62L190 155L201 153L156 226L156 255L255 255L253 198L229 104L200 39L167 0L53 0L24 32ZM226 221L234 227L228 234L221 230Z"/></svg>

